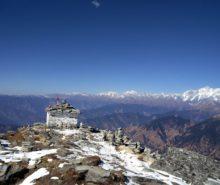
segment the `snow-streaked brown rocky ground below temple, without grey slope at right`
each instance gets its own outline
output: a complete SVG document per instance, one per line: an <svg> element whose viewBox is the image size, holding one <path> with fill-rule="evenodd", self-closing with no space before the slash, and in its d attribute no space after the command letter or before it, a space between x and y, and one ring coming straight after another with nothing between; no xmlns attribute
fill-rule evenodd
<svg viewBox="0 0 220 185"><path fill-rule="evenodd" d="M7 134L4 143L10 147L0 153L0 184L187 185L180 177L152 169L151 155L135 152L133 145L104 140L104 132L38 125Z"/></svg>

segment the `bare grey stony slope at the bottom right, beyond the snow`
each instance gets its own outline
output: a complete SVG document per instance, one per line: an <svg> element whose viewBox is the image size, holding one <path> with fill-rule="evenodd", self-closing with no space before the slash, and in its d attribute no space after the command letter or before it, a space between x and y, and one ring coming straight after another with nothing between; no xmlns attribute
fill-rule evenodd
<svg viewBox="0 0 220 185"><path fill-rule="evenodd" d="M186 149L170 147L151 165L182 177L188 183L203 184L209 177L220 179L220 162Z"/></svg>

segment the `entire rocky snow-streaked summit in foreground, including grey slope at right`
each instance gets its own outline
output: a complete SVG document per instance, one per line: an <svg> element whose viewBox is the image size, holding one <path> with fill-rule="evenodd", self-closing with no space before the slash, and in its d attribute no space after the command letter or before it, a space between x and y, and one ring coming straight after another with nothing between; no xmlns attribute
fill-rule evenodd
<svg viewBox="0 0 220 185"><path fill-rule="evenodd" d="M0 135L0 184L220 184L218 161L170 148L159 155L132 142L122 129L47 128Z"/></svg>

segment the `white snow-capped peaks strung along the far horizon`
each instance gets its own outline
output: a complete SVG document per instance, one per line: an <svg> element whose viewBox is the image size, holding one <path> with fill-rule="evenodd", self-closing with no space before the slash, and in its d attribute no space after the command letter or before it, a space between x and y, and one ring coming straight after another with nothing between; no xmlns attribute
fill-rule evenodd
<svg viewBox="0 0 220 185"><path fill-rule="evenodd" d="M55 94L41 94L41 95L11 95L17 97L32 96L42 98L69 98L69 97L84 97L84 98L107 98L112 100L123 100L123 99L166 99L166 100L179 100L188 103L199 103L204 101L220 102L220 88L203 87L200 89L187 90L183 93L148 93L148 92L137 92L135 90L128 90L123 93L116 91L107 91L97 94L90 93L55 93Z"/></svg>

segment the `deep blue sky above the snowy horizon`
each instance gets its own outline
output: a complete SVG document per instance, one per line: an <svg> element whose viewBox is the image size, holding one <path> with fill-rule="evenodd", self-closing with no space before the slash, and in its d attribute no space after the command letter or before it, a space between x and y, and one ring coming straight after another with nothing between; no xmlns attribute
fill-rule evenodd
<svg viewBox="0 0 220 185"><path fill-rule="evenodd" d="M0 93L220 87L220 1L1 0Z"/></svg>

